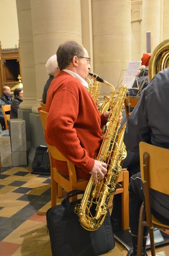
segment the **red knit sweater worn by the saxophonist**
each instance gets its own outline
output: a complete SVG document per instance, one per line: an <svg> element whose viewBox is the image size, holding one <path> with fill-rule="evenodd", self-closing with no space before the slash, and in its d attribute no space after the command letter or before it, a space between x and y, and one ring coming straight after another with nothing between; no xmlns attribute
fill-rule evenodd
<svg viewBox="0 0 169 256"><path fill-rule="evenodd" d="M90 178L94 156L100 148L101 120L95 102L85 87L67 72L61 71L49 86L46 109L49 112L46 143L57 149L76 166L78 178ZM57 170L68 175L63 161L54 159Z"/></svg>

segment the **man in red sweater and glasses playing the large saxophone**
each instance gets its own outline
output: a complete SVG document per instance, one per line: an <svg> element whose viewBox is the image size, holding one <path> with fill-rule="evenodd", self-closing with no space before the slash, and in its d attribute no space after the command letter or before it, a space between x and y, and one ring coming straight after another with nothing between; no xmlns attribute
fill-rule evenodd
<svg viewBox="0 0 169 256"><path fill-rule="evenodd" d="M90 58L84 47L74 41L63 43L57 50L57 63L60 73L50 84L46 98L49 115L45 139L76 166L78 178L93 175L97 183L97 175L102 179L107 165L93 158L101 146L101 127L109 112L100 115L87 91ZM57 170L68 175L65 164L54 159Z"/></svg>

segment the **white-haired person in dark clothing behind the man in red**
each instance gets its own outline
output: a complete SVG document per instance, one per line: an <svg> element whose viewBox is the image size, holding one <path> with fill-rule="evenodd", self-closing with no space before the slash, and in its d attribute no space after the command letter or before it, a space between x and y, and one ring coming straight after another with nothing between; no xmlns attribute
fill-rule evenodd
<svg viewBox="0 0 169 256"><path fill-rule="evenodd" d="M59 73L59 68L57 65L57 56L56 54L51 56L48 61L46 62L46 70L47 74L49 75L49 79L46 81L46 84L44 86L44 92L42 95L42 101L44 104L46 104L46 96L47 96L47 91L49 89L49 85L52 82L52 80L55 78L55 76Z"/></svg>

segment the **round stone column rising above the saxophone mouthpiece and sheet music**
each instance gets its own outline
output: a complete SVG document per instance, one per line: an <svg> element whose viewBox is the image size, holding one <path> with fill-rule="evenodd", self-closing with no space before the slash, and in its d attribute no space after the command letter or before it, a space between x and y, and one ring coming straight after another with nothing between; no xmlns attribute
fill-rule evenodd
<svg viewBox="0 0 169 256"><path fill-rule="evenodd" d="M116 88L131 61L131 1L95 0L92 18L94 72ZM100 101L110 91L103 84Z"/></svg>

